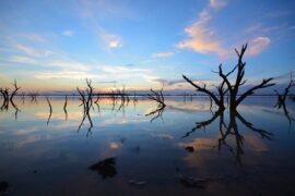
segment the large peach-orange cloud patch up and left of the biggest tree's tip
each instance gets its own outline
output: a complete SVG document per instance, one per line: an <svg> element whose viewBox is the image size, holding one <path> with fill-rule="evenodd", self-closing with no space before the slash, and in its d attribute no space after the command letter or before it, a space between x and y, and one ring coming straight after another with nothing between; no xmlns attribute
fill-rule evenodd
<svg viewBox="0 0 295 196"><path fill-rule="evenodd" d="M185 28L188 39L178 44L180 49L191 49L199 53L217 53L220 57L226 57L227 51L222 48L221 40L216 38L215 32L209 27L211 15L203 10L192 25Z"/></svg>

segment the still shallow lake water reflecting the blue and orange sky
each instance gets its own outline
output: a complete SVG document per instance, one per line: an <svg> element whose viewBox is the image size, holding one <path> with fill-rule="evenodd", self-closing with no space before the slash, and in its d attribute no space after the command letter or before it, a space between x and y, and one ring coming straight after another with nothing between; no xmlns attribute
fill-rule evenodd
<svg viewBox="0 0 295 196"><path fill-rule="evenodd" d="M93 127L81 124L78 98L67 115L63 98L50 97L51 115L45 98L16 99L16 115L12 106L0 112L1 194L295 195L295 122L275 97L250 97L238 114L215 114L205 97L170 97L153 121L151 100L101 99Z"/></svg>

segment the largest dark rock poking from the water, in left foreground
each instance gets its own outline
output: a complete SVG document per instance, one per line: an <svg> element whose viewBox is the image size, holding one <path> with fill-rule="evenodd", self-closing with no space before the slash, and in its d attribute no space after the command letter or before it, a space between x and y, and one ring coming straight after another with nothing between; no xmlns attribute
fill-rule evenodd
<svg viewBox="0 0 295 196"><path fill-rule="evenodd" d="M115 168L116 158L107 158L103 161L99 161L91 167L88 167L92 171L97 171L103 179L113 177L117 174L117 170Z"/></svg>

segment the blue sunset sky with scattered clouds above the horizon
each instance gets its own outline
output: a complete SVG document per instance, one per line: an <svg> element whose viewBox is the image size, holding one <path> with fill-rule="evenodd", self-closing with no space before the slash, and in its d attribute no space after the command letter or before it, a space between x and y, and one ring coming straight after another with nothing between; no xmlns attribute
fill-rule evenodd
<svg viewBox="0 0 295 196"><path fill-rule="evenodd" d="M294 0L1 0L0 86L73 90L214 84L248 44L246 77L285 75L295 62Z"/></svg>

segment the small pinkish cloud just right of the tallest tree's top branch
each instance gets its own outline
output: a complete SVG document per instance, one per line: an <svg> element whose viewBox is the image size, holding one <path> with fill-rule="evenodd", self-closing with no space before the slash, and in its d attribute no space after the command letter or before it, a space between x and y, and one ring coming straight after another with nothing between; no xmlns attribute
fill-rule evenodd
<svg viewBox="0 0 295 196"><path fill-rule="evenodd" d="M257 56L261 53L269 45L271 40L269 37L256 37L249 41L249 48L247 56Z"/></svg>

